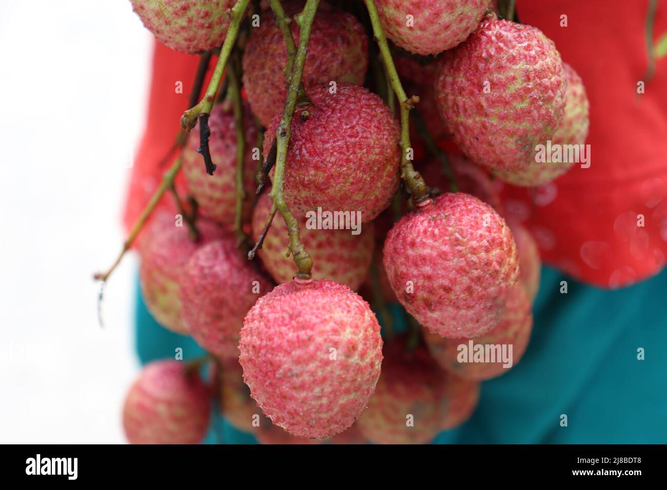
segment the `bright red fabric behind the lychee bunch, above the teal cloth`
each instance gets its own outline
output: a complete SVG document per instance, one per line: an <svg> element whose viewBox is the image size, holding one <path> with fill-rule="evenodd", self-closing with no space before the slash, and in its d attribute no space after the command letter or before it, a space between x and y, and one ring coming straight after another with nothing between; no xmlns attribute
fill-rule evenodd
<svg viewBox="0 0 667 490"><path fill-rule="evenodd" d="M601 287L658 273L667 257L667 57L658 59L646 93L644 23L649 0L518 0L524 23L556 42L582 77L590 99L591 166L575 164L536 189L505 185L508 215L534 233L542 258ZM560 16L568 27L560 27ZM667 32L667 5L658 2L654 41ZM155 47L147 127L132 169L125 224L131 225L165 169L197 68L197 57ZM211 60L211 66L215 59ZM176 81L183 93L175 93ZM532 196L534 195L534 199ZM163 199L171 209L171 198ZM644 227L637 215L644 215Z"/></svg>

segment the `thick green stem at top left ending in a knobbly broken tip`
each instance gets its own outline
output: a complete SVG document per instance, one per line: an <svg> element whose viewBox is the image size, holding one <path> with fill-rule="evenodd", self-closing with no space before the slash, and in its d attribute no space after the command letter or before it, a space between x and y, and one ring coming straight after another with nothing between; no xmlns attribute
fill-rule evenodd
<svg viewBox="0 0 667 490"><path fill-rule="evenodd" d="M245 15L248 3L250 3L250 0L238 0L236 4L231 7L231 21L229 21L229 27L227 27L225 42L220 49L220 57L217 59L217 64L213 70L213 77L211 77L206 93L197 105L185 111L181 117L181 127L188 133L197 125L197 119L200 115L211 113L213 102L215 102L215 95L220 87L222 75L227 66L227 61L229 60L229 55L231 55L231 50L239 35L239 28L241 27L241 21L243 20L243 15Z"/></svg>

